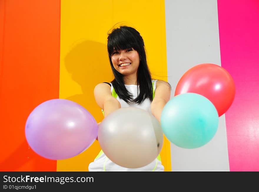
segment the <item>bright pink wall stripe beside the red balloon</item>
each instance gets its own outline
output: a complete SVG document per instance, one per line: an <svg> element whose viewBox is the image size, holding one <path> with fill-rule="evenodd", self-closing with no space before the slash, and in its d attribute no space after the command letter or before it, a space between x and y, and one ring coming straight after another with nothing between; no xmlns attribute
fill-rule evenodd
<svg viewBox="0 0 259 192"><path fill-rule="evenodd" d="M235 100L225 113L230 171L259 171L259 1L218 0L221 66Z"/></svg>

